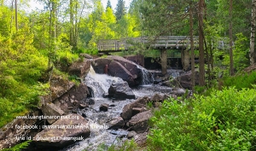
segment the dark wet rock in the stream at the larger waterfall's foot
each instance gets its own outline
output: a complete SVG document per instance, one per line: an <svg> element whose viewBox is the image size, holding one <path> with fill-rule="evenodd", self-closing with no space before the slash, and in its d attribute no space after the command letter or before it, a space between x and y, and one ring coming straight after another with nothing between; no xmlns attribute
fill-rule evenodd
<svg viewBox="0 0 256 151"><path fill-rule="evenodd" d="M113 82L108 89L108 96L118 100L135 99L135 95L127 82Z"/></svg>

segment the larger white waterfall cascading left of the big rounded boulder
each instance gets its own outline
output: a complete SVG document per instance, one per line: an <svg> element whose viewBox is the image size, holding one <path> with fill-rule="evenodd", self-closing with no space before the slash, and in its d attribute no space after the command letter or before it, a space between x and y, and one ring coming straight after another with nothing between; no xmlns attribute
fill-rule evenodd
<svg viewBox="0 0 256 151"><path fill-rule="evenodd" d="M121 78L111 77L107 74L95 73L93 67L90 66L90 71L86 75L84 83L92 90L92 96L95 98L102 98L104 94L108 93L108 89L113 81L122 80Z"/></svg>

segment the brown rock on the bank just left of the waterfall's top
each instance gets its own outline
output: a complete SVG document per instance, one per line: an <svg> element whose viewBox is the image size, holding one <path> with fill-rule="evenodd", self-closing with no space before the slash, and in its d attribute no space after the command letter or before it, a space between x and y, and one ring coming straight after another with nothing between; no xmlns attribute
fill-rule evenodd
<svg viewBox="0 0 256 151"><path fill-rule="evenodd" d="M76 75L78 78L84 78L90 70L90 62L87 59L75 61L68 67L68 73L70 75Z"/></svg>

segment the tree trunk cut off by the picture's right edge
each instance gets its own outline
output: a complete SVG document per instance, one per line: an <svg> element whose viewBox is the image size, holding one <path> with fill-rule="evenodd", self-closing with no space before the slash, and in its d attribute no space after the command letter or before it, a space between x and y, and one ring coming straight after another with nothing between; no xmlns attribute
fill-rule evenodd
<svg viewBox="0 0 256 151"><path fill-rule="evenodd" d="M251 20L251 37L250 37L250 64L254 65L255 55L255 28L256 28L256 0L252 2L252 20Z"/></svg>

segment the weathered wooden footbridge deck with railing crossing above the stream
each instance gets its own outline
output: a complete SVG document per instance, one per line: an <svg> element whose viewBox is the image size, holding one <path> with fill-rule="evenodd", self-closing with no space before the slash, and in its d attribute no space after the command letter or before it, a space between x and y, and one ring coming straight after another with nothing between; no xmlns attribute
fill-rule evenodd
<svg viewBox="0 0 256 151"><path fill-rule="evenodd" d="M122 38L100 40L97 47L100 53L119 52L135 49L137 44L143 44L152 49L190 49L190 37L188 36L160 36L157 38ZM194 37L194 47L198 48L198 37ZM224 41L218 42L219 49L224 48Z"/></svg>

